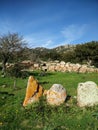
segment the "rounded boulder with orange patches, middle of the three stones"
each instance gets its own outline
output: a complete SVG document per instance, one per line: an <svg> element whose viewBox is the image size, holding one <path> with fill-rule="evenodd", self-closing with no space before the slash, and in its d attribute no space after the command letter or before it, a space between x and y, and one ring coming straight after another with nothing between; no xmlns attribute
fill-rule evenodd
<svg viewBox="0 0 98 130"><path fill-rule="evenodd" d="M53 84L46 93L46 99L50 105L60 105L64 103L66 97L66 90L61 84Z"/></svg>

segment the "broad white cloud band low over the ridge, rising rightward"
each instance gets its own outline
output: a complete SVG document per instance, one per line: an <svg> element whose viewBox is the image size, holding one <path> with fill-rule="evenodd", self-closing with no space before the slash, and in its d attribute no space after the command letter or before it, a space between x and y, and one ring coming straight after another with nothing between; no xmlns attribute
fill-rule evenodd
<svg viewBox="0 0 98 130"><path fill-rule="evenodd" d="M70 44L72 42L76 42L81 39L86 31L88 25L76 25L72 24L63 28L60 33L49 34L47 32L36 32L30 35L25 36L25 39L29 43L29 47L46 47L46 48L54 48L60 45Z"/></svg>

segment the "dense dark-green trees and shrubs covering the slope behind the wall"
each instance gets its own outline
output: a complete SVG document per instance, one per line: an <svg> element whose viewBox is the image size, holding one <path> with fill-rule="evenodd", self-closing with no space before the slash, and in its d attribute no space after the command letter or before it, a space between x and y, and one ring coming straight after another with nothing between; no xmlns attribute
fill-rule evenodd
<svg viewBox="0 0 98 130"><path fill-rule="evenodd" d="M89 63L98 67L98 42L92 41L76 46L61 46L54 49L34 49L32 50L42 60L59 60L72 63ZM40 53L40 55L39 55Z"/></svg>

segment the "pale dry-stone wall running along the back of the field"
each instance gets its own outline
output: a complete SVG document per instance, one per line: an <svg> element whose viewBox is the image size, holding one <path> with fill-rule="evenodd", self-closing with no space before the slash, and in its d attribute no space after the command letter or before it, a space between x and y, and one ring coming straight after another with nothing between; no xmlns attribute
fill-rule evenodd
<svg viewBox="0 0 98 130"><path fill-rule="evenodd" d="M77 72L77 73L86 73L86 72L98 72L98 68L94 66L81 65L81 64L73 64L73 63L65 63L64 61L60 63L55 62L47 62L41 65L34 64L33 69L42 69L45 71L60 71L60 72Z"/></svg>

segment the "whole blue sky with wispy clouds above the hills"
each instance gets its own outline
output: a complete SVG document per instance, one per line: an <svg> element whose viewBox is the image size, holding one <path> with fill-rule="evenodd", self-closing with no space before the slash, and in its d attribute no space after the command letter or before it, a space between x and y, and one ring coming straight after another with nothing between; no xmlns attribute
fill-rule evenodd
<svg viewBox="0 0 98 130"><path fill-rule="evenodd" d="M98 0L0 0L0 35L8 32L32 48L98 41Z"/></svg>

